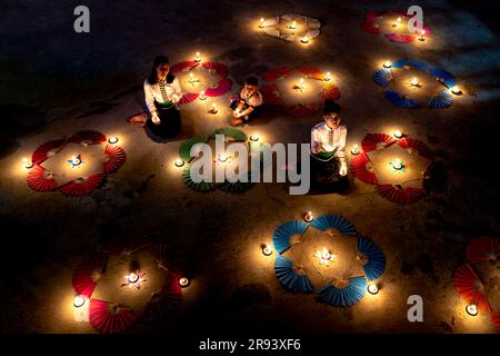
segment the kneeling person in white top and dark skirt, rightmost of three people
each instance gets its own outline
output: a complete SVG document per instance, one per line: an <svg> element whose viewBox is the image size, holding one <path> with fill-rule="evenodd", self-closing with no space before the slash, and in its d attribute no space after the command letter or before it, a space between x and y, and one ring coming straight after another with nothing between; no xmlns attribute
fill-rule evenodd
<svg viewBox="0 0 500 356"><path fill-rule="evenodd" d="M346 181L346 139L348 129L341 125L341 108L333 100L324 100L323 121L311 130L312 184L334 189Z"/></svg>

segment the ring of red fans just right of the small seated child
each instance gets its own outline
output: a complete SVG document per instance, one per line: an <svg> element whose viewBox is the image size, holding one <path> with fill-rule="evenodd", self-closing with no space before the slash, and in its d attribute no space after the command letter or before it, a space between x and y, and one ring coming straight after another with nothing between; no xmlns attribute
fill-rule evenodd
<svg viewBox="0 0 500 356"><path fill-rule="evenodd" d="M289 77L294 70L304 76L303 80L319 80L322 82L322 89L318 93L318 100L311 102L294 102L286 103L281 96L277 82ZM266 72L263 77L266 85L262 87L263 102L271 106L284 107L284 111L291 116L308 117L317 113L322 101L327 99L338 100L340 98L340 90L331 79L327 80L326 73L316 67L278 67ZM300 89L300 88L299 88Z"/></svg>

